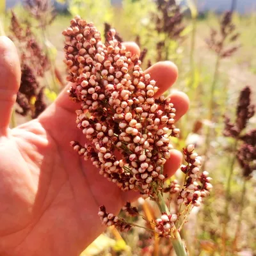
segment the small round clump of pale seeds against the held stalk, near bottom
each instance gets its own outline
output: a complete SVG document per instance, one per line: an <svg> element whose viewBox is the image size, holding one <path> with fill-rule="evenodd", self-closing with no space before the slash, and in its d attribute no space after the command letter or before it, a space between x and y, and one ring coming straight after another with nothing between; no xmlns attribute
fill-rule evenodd
<svg viewBox="0 0 256 256"><path fill-rule="evenodd" d="M167 215L163 212L161 219L156 220L155 232L159 234L160 237L171 238L170 233L172 232L172 227L176 220L176 214Z"/></svg>

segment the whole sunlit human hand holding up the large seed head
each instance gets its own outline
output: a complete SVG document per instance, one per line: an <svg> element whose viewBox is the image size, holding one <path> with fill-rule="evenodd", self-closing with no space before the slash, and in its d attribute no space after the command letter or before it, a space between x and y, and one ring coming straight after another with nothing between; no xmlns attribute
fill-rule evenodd
<svg viewBox="0 0 256 256"><path fill-rule="evenodd" d="M125 44L133 54L133 43ZM36 120L8 129L20 84L20 64L13 43L0 37L0 255L79 255L104 230L99 205L118 213L138 194L122 192L99 175L93 164L77 157L72 140L85 141L76 127L77 104L66 90ZM169 61L148 68L160 90L177 78ZM172 93L179 119L188 97ZM179 168L181 154L172 150L164 165L168 176Z"/></svg>

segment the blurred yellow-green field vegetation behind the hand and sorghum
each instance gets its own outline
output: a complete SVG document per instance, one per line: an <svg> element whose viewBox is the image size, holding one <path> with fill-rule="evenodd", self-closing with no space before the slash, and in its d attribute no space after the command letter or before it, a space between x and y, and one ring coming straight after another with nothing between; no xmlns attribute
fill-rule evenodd
<svg viewBox="0 0 256 256"><path fill-rule="evenodd" d="M220 29L222 16L211 12L198 14L195 0L182 2L180 12L182 12L184 29L180 31L178 38L170 37L171 34L166 31L157 31L155 18L159 17L163 22L164 18L161 17L163 13L159 11L156 1L153 0L123 0L122 6L111 6L109 0L70 0L68 13L57 13L52 23L45 26L44 33L38 29L38 22L29 15L28 10L24 10L22 6L15 6L13 11L20 22L29 22L38 42L50 58L52 68L45 73L44 79L40 80L45 86L48 103L56 99L62 87L60 81L65 80L62 51L64 44L61 32L77 14L83 19L92 21L102 33L104 22L108 22L116 28L125 41L139 40L141 49L147 49L143 61L144 68L147 68L149 63L154 64L159 60L171 60L177 64L179 79L171 91L180 90L187 93L191 106L187 115L177 125L181 131L180 140L173 140L173 144L182 150L186 144L195 143L199 154L205 153L205 145L207 145L207 161L204 167L213 178L214 186L211 197L200 209L192 212L191 220L185 225L182 237L186 240L190 255L223 255L223 225L226 225L227 235L224 243L227 251L224 255L253 256L256 255L256 177L254 175L246 182L247 193L244 193L243 198L242 225L234 250L232 241L239 220L243 177L241 168L235 161L230 180L229 215L226 219L224 218L225 191L232 164L230 159L234 158L236 152L232 150L234 138L224 137L222 132L223 114L228 113L231 118L235 116L237 97L244 86L251 86L252 102L254 104L256 102L256 11L247 15L232 13L232 22L239 33L237 41L241 47L233 56L218 63L218 77L216 77L216 72L214 73L216 52L207 48L205 39L209 38L211 28ZM4 1L1 1L0 10L3 10L3 6ZM10 11L6 12L5 16L3 11L1 13L5 34L12 36L9 30ZM159 42L164 42L164 48L159 48L159 45L157 48ZM19 48L19 44L17 47ZM52 71L56 70L56 67L59 76ZM212 83L214 83L213 89ZM209 105L211 97L212 104ZM213 113L210 118L209 111ZM16 116L16 119L20 124L28 118ZM250 119L246 131L253 127L256 127L255 116ZM211 132L208 134L209 130ZM206 141L207 136L209 136L208 141ZM175 178L182 179L181 173L177 172ZM146 212L148 218L159 215L156 209L151 209L150 202L139 201L136 204L141 211ZM99 237L82 255L171 255L172 253L170 244L157 237L150 237L141 230L134 229L129 234L121 234L122 237L112 229L107 230L106 234L108 237Z"/></svg>

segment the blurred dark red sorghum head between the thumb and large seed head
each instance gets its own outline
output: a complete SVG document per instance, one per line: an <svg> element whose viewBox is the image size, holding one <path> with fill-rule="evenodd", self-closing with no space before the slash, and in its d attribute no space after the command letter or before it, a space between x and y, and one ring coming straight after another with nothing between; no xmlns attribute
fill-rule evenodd
<svg viewBox="0 0 256 256"><path fill-rule="evenodd" d="M45 71L49 69L49 60L31 32L30 25L20 24L14 12L10 31L14 42L19 42L20 52L21 81L16 102L22 110L16 109L16 113L36 118L46 108L44 88L36 77L44 76Z"/></svg>

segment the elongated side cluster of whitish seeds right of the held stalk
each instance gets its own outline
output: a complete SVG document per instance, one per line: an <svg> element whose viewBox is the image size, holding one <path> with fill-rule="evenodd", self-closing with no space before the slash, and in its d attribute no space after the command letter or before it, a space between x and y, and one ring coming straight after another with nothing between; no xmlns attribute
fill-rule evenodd
<svg viewBox="0 0 256 256"><path fill-rule="evenodd" d="M199 206L202 198L209 195L212 184L208 172L200 172L201 157L194 152L195 146L188 145L183 148L187 165L180 166L180 170L186 174L184 188L181 189L177 198L178 204L193 204Z"/></svg>

